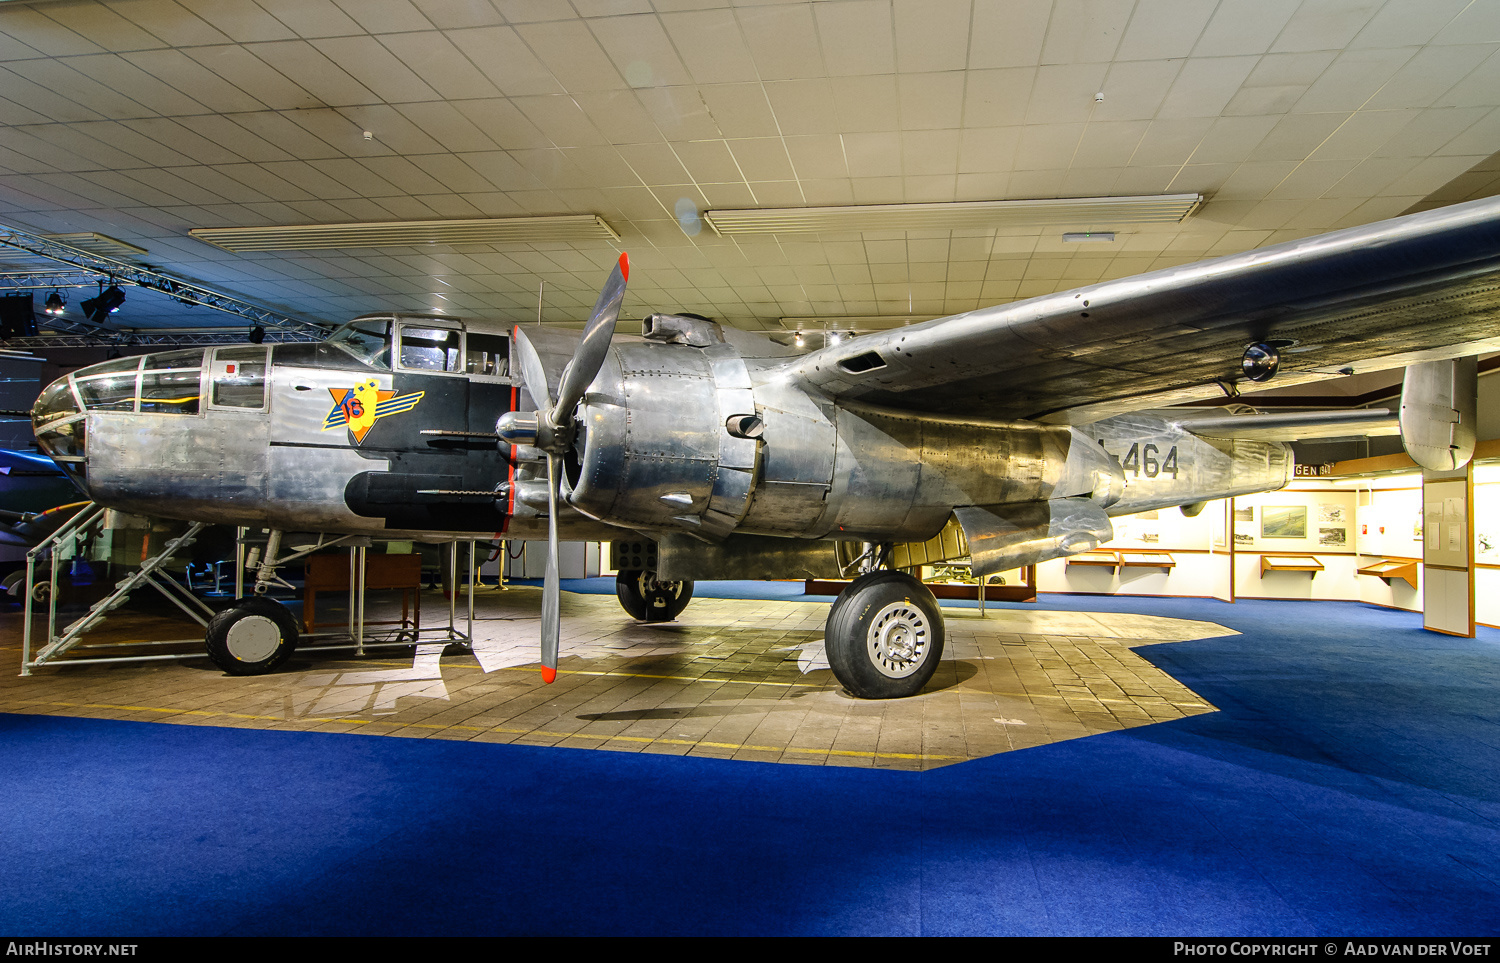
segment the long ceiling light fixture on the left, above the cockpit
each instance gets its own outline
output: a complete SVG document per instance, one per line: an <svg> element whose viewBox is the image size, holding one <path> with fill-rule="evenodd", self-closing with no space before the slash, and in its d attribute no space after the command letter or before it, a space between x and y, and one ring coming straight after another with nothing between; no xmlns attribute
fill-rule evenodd
<svg viewBox="0 0 1500 963"><path fill-rule="evenodd" d="M620 236L598 214L296 224L272 228L194 228L188 232L198 240L234 252L620 240Z"/></svg>

